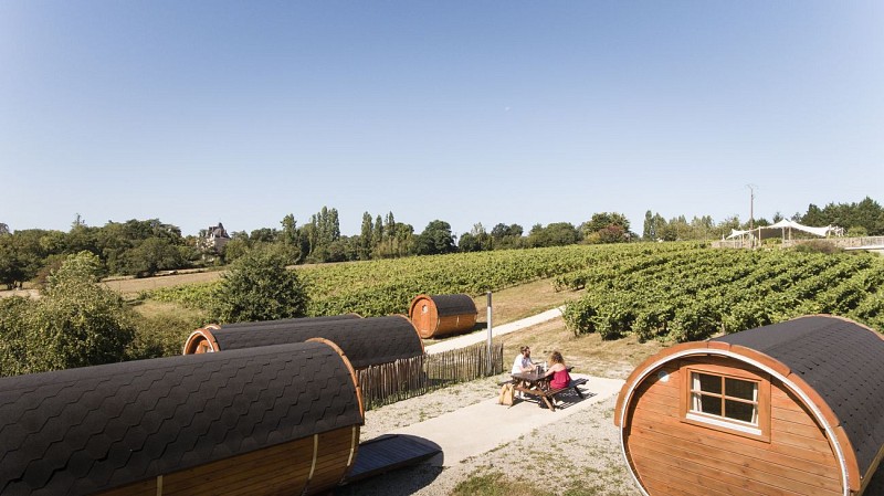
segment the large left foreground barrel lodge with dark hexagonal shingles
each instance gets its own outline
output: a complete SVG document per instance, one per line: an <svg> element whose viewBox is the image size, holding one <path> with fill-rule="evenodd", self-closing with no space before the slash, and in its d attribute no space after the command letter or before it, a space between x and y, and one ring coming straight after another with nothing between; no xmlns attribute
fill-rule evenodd
<svg viewBox="0 0 884 496"><path fill-rule="evenodd" d="M352 368L305 342L0 379L0 494L334 488L364 423Z"/></svg>

